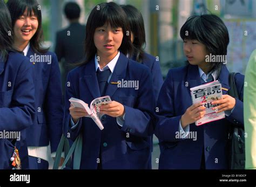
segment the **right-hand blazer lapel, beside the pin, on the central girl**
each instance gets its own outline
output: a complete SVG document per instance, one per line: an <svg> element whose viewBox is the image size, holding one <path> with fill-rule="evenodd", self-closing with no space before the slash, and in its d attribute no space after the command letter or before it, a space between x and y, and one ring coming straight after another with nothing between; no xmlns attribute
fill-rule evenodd
<svg viewBox="0 0 256 187"><path fill-rule="evenodd" d="M117 60L116 67L114 67L114 71L112 73L109 84L106 88L105 95L109 95L110 97L117 91L118 85L113 84L113 82L122 81L126 75L126 68L128 64L128 59L125 57L123 53L120 53L120 56Z"/></svg>

